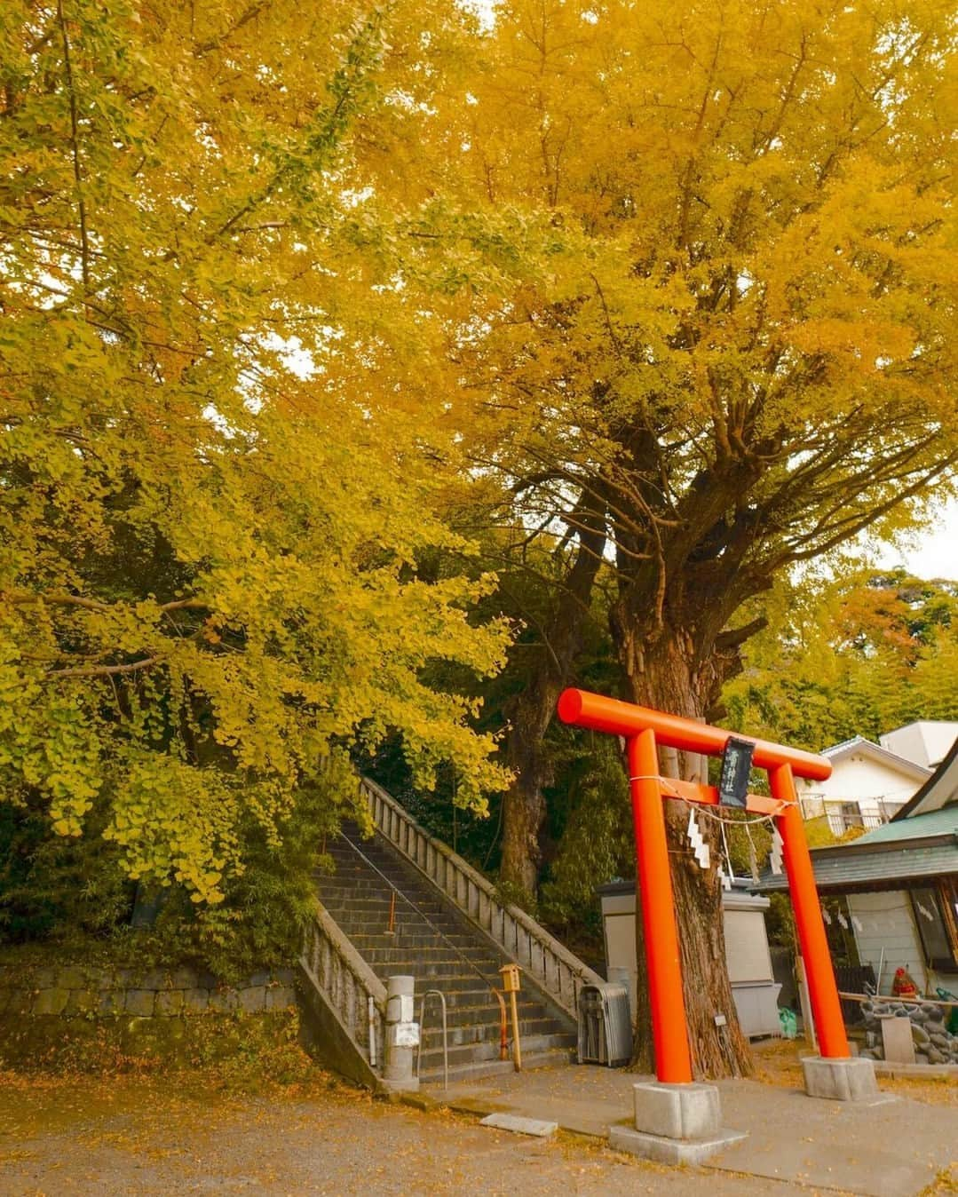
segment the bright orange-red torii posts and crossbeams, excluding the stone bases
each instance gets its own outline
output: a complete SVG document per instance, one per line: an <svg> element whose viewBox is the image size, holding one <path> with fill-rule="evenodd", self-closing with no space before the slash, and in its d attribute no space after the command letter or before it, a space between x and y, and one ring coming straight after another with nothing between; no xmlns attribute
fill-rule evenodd
<svg viewBox="0 0 958 1197"><path fill-rule="evenodd" d="M642 894L655 1071L660 1082L691 1083L692 1062L662 809L663 779L659 774L656 747L663 745L684 752L721 757L730 733L584 689L564 691L559 698L558 712L564 723L625 737L636 832L637 877ZM782 837L782 857L821 1055L831 1059L847 1059L848 1039L838 989L795 792L796 776L824 782L831 774L831 764L824 757L800 748L787 748L784 745L751 736L736 739L747 740L753 746L752 764L766 770L769 774L771 798L750 794L745 809L753 814L772 815ZM705 806L717 806L720 802L718 790L714 785L698 785L673 778L668 778L667 784L673 794L666 797L678 796Z"/></svg>

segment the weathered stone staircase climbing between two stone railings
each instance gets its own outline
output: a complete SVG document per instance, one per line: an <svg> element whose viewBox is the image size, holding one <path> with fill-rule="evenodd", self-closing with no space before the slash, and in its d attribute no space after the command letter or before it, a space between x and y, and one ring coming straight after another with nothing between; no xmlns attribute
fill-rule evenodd
<svg viewBox="0 0 958 1197"><path fill-rule="evenodd" d="M416 978L417 1020L422 995L437 989L445 996L450 1080L511 1070L509 1061L499 1059L501 1005L493 989L502 986L498 970L513 956L382 834L362 839L358 828L347 826L327 851L335 871L317 876L320 900L372 973L383 984L396 974ZM525 974L519 1015L523 1065L570 1058L574 1020ZM511 1026L509 1037L511 1044ZM435 998L426 1004L420 1051L423 1083L441 1083Z"/></svg>

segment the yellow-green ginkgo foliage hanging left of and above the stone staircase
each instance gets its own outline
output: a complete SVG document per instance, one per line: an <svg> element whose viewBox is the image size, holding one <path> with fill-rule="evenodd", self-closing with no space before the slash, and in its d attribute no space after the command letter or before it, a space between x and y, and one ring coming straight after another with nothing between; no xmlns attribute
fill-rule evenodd
<svg viewBox="0 0 958 1197"><path fill-rule="evenodd" d="M454 7L0 12L0 802L216 907L302 795L399 729L502 784L437 660L498 667L439 518L444 334L371 209ZM413 195L416 200L416 196ZM432 305L435 309L435 304ZM437 366L437 369L439 369ZM425 377L424 377L425 373Z"/></svg>

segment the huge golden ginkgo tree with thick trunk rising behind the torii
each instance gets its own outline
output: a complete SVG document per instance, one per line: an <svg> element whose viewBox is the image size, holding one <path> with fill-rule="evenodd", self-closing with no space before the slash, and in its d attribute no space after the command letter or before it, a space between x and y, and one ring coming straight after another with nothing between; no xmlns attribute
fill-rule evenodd
<svg viewBox="0 0 958 1197"><path fill-rule="evenodd" d="M954 37L941 0L497 7L449 104L457 169L568 249L460 358L489 409L475 460L568 560L514 719L503 864L526 888L544 813L526 733L572 674L598 559L625 697L714 721L763 626L750 600L953 487ZM667 808L697 1067L746 1070L716 875ZM647 1063L648 1029L641 1010Z"/></svg>

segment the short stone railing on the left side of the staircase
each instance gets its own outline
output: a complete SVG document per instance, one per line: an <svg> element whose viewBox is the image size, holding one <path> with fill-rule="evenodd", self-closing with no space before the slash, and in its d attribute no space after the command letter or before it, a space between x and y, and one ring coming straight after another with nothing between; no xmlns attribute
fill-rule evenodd
<svg viewBox="0 0 958 1197"><path fill-rule="evenodd" d="M320 906L303 940L299 964L353 1047L380 1074L386 1031L386 986Z"/></svg>

